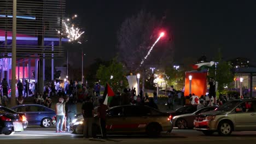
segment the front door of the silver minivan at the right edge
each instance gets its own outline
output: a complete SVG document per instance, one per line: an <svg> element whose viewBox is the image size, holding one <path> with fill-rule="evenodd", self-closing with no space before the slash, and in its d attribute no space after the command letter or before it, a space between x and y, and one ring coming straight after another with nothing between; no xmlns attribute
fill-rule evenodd
<svg viewBox="0 0 256 144"><path fill-rule="evenodd" d="M255 101L245 101L236 107L236 130L256 130L256 104Z"/></svg>

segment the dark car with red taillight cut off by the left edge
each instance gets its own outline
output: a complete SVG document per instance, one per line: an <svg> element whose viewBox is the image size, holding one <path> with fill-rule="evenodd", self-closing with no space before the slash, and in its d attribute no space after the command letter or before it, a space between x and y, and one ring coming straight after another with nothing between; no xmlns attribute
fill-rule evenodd
<svg viewBox="0 0 256 144"><path fill-rule="evenodd" d="M10 135L15 131L23 131L22 122L18 113L0 109L0 134Z"/></svg>

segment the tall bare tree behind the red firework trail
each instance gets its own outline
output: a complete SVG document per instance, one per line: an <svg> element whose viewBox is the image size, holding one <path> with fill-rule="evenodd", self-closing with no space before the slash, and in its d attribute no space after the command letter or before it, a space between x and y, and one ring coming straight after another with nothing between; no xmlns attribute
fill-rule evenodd
<svg viewBox="0 0 256 144"><path fill-rule="evenodd" d="M161 38L161 43L156 46L164 46L165 49L153 49L149 57L144 60L150 47L158 39L162 21L154 15L141 10L137 15L127 18L117 34L119 59L125 64L131 73L140 72L142 76L142 88L146 79L145 71L147 64L167 65L172 61L172 49L170 38ZM166 29L167 30L167 29ZM167 35L167 34L166 34ZM169 55L169 53L171 53Z"/></svg>

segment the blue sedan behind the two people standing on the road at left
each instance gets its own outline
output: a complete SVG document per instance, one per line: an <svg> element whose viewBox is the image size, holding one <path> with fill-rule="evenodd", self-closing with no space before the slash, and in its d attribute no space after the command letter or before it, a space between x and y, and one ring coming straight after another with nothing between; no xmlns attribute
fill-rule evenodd
<svg viewBox="0 0 256 144"><path fill-rule="evenodd" d="M40 125L44 128L50 127L53 124L52 118L56 115L53 109L37 104L17 105L11 109L16 112L25 113L30 125Z"/></svg>

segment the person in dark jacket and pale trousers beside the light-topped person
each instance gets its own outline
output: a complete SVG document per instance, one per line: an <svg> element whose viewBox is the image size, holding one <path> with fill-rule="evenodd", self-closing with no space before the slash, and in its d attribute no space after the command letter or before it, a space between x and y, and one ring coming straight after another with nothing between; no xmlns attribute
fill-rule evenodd
<svg viewBox="0 0 256 144"><path fill-rule="evenodd" d="M73 121L75 114L77 114L77 106L75 105L75 99L70 98L65 105L67 113L67 131L70 130L70 123Z"/></svg>

